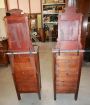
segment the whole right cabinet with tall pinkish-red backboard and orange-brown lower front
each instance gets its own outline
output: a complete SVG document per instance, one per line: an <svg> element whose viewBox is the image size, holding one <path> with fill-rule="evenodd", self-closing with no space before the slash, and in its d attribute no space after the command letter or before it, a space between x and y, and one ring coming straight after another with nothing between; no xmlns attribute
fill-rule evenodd
<svg viewBox="0 0 90 105"><path fill-rule="evenodd" d="M58 17L58 39L54 58L54 99L56 93L74 93L78 97L83 54L81 44L82 14L75 5ZM74 51L76 50L76 52Z"/></svg>

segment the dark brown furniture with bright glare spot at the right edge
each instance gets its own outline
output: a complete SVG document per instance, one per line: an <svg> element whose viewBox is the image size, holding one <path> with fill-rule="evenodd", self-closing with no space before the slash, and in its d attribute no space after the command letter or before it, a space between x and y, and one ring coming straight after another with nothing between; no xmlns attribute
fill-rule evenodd
<svg viewBox="0 0 90 105"><path fill-rule="evenodd" d="M88 12L90 11L90 0L77 0L78 12L83 14L82 32L81 32L81 42L83 48L85 48L85 42L87 37L87 25L88 25Z"/></svg>

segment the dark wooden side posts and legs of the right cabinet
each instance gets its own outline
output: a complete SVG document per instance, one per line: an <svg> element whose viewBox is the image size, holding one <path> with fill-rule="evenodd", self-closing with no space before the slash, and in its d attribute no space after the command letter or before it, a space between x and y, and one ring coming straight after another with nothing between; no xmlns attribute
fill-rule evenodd
<svg viewBox="0 0 90 105"><path fill-rule="evenodd" d="M64 51L63 51L64 52ZM54 90L54 100L56 100L56 54L60 55L60 50L59 49L53 49L52 50L53 53L53 90ZM81 56L80 58L80 65L79 65L79 73L78 73L78 81L77 81L77 89L76 92L74 92L74 99L77 100L78 98L78 91L79 91L79 84L80 84L80 77L81 77L81 67L82 67L82 61L83 61L83 57L82 57L82 53L77 52L77 54L79 54L79 56Z"/></svg>

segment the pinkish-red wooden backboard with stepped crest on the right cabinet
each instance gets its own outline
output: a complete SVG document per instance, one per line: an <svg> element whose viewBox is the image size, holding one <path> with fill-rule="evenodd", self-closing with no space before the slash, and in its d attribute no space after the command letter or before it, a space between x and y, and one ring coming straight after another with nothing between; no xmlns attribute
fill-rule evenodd
<svg viewBox="0 0 90 105"><path fill-rule="evenodd" d="M74 7L66 8L65 13L59 15L57 48L68 50L82 48L81 22L82 14L76 13Z"/></svg>

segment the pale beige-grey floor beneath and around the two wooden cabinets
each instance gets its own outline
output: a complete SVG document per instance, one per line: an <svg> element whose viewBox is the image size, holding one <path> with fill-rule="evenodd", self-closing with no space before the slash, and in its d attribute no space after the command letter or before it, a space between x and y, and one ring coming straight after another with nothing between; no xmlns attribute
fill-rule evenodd
<svg viewBox="0 0 90 105"><path fill-rule="evenodd" d="M78 100L74 94L58 94L53 100L52 80L52 53L51 48L55 43L39 43L40 67L42 77L42 99L37 94L21 94L22 100L18 101L10 66L0 67L0 105L90 105L90 64L84 64L80 82Z"/></svg>

